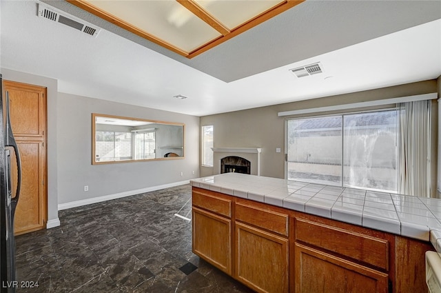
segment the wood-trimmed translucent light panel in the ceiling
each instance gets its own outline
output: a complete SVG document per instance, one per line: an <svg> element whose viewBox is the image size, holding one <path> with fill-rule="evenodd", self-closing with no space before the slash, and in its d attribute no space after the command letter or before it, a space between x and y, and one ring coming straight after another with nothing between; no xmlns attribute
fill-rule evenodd
<svg viewBox="0 0 441 293"><path fill-rule="evenodd" d="M67 0L192 59L305 0Z"/></svg>

